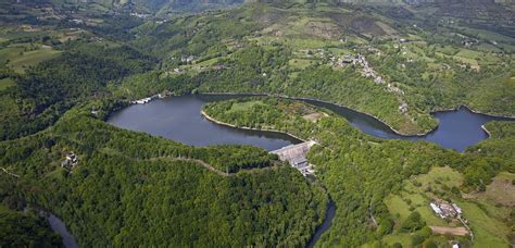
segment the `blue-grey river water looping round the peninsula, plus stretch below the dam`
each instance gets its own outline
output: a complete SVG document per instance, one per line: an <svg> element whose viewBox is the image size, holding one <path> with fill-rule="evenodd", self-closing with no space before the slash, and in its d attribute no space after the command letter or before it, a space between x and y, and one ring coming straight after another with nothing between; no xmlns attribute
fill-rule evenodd
<svg viewBox="0 0 515 248"><path fill-rule="evenodd" d="M147 104L127 107L111 115L108 122L118 127L163 136L191 146L237 144L275 150L300 142L300 140L286 134L246 131L218 125L205 120L200 113L204 103L247 96L248 95L190 95L171 97ZM488 138L488 134L481 128L485 123L489 121L511 120L478 114L467 108L460 108L455 111L435 113L434 115L440 121L440 125L437 129L427 135L402 136L393 132L381 121L352 109L316 100L300 100L329 109L346 117L354 127L378 138L427 140L457 151L464 151L466 147ZM331 201L328 204L324 223L316 230L309 247L314 246L322 234L330 227L335 212L336 207Z"/></svg>

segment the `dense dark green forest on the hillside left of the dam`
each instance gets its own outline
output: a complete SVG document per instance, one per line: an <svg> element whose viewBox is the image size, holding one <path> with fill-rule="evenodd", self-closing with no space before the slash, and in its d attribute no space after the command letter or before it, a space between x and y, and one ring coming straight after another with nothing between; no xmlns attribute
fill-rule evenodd
<svg viewBox="0 0 515 248"><path fill-rule="evenodd" d="M61 168L70 151L78 165ZM30 139L3 142L0 153L20 175L2 201L41 204L86 246L303 246L327 203L321 186L262 149L187 147L112 127L88 108Z"/></svg>

